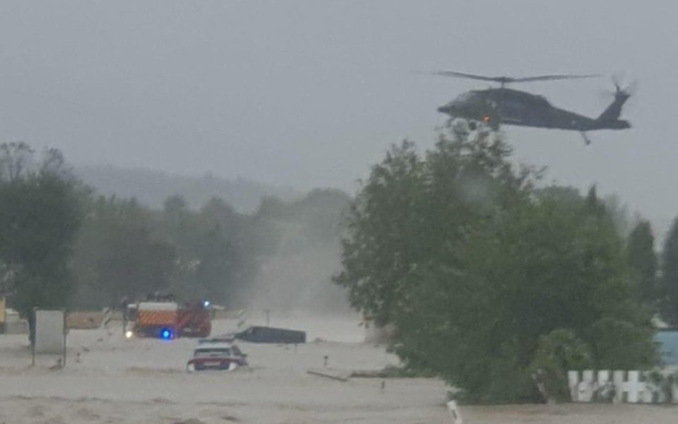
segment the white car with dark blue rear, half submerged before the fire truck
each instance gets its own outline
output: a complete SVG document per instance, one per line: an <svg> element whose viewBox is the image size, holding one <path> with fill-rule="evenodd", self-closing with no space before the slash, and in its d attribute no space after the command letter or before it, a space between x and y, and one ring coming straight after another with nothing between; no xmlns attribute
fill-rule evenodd
<svg viewBox="0 0 678 424"><path fill-rule="evenodd" d="M228 370L246 367L247 355L242 353L232 338L201 340L193 351L193 358L186 363L186 370Z"/></svg>

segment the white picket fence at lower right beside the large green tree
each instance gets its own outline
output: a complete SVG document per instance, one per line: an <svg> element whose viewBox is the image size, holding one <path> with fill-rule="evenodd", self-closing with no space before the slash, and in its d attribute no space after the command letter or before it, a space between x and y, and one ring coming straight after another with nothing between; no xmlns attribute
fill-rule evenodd
<svg viewBox="0 0 678 424"><path fill-rule="evenodd" d="M678 404L678 381L675 376L668 372L609 370L567 373L570 396L574 402L612 400L630 404Z"/></svg>

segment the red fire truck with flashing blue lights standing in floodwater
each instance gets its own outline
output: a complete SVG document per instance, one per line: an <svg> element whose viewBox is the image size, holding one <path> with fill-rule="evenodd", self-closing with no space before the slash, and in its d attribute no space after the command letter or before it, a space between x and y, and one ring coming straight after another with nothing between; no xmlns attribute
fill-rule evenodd
<svg viewBox="0 0 678 424"><path fill-rule="evenodd" d="M125 336L155 337L171 340L177 337L207 337L212 331L209 302L148 300L128 305Z"/></svg>

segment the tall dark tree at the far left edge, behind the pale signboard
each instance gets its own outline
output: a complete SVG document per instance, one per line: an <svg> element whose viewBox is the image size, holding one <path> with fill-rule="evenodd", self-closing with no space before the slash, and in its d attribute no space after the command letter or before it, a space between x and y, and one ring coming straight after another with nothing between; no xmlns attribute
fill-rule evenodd
<svg viewBox="0 0 678 424"><path fill-rule="evenodd" d="M61 153L47 151L32 167L25 143L0 145L0 262L11 269L11 304L65 307L73 289L69 259L82 219L80 185Z"/></svg>

